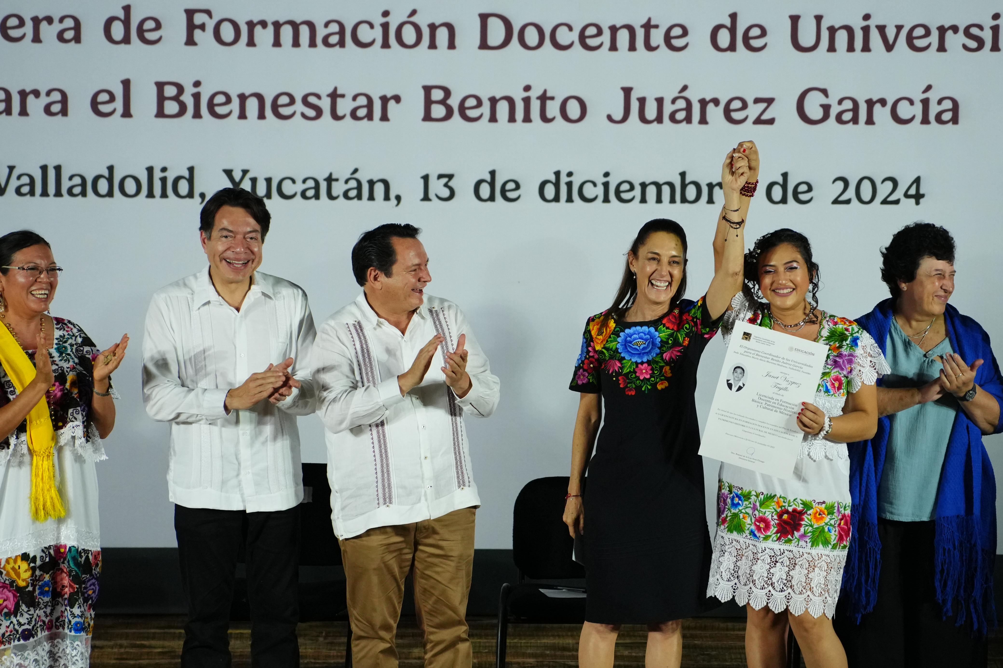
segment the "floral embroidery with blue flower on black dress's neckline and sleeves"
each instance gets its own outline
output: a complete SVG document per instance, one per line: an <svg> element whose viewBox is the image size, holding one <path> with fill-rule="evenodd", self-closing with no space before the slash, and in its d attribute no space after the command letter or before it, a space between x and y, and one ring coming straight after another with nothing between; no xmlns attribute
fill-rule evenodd
<svg viewBox="0 0 1003 668"><path fill-rule="evenodd" d="M669 387L672 367L682 358L690 339L710 339L716 322L704 321L703 298L682 302L651 324L623 327L606 311L589 318L582 336L572 389L585 385L598 388L599 374L606 372L626 395Z"/></svg>

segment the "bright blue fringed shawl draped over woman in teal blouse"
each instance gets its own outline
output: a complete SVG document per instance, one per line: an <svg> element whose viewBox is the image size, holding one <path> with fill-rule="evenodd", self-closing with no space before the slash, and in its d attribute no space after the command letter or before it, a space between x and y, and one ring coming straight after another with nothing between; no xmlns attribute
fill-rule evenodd
<svg viewBox="0 0 1003 668"><path fill-rule="evenodd" d="M857 318L884 353L892 326L892 299ZM985 363L975 372L975 383L1003 405L1003 383L989 336L971 317L948 304L944 313L947 337L966 364ZM879 385L881 382L879 381ZM849 444L850 494L853 499L853 540L847 553L842 595L851 614L874 609L881 574L878 538L878 486L885 466L890 421L878 420L871 441ZM1003 432L1003 420L996 432ZM951 428L944 468L934 506L934 564L937 600L945 618L957 614L958 626L971 620L973 630L985 635L996 624L993 603L993 565L996 558L996 479L982 445L982 432L959 410Z"/></svg>

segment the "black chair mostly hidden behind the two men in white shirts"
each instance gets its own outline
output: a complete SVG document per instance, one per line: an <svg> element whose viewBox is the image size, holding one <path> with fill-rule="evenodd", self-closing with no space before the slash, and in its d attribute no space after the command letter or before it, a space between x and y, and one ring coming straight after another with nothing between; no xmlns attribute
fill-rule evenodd
<svg viewBox="0 0 1003 668"><path fill-rule="evenodd" d="M300 509L300 566L341 567L341 548L331 526L331 487L327 482L326 464L303 465L303 503ZM241 546L238 563L245 563ZM348 639L345 642L345 668L352 666L352 626L348 620L345 600L345 580L301 582L299 586L301 622L345 622ZM234 601L230 618L249 621L246 578L234 582Z"/></svg>

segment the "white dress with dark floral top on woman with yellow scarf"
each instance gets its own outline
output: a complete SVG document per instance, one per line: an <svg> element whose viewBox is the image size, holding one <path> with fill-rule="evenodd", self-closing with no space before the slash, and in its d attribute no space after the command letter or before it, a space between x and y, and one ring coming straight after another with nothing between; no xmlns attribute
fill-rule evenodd
<svg viewBox="0 0 1003 668"><path fill-rule="evenodd" d="M52 319L55 379L46 400L66 516L31 518L32 458L22 423L0 439L0 668L83 668L90 660L101 570L94 464L105 456L88 414L100 349L77 324ZM28 351L32 362L34 354ZM0 407L16 397L0 368Z"/></svg>

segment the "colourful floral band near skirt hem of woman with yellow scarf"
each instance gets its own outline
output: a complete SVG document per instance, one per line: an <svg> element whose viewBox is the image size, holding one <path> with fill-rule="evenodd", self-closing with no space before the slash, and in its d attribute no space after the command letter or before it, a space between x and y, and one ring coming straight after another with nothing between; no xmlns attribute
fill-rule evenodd
<svg viewBox="0 0 1003 668"><path fill-rule="evenodd" d="M75 545L0 560L0 648L53 631L89 636L100 572L101 551Z"/></svg>

